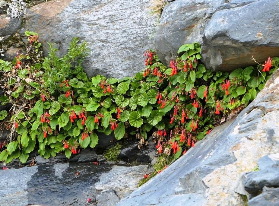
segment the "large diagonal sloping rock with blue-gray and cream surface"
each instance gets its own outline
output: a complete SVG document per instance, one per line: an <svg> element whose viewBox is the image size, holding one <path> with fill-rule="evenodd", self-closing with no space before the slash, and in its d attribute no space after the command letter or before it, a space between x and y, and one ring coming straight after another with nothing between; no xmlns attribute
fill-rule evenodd
<svg viewBox="0 0 279 206"><path fill-rule="evenodd" d="M238 186L279 152L279 71L236 119L215 128L118 205L243 205ZM166 185L167 183L167 185Z"/></svg>

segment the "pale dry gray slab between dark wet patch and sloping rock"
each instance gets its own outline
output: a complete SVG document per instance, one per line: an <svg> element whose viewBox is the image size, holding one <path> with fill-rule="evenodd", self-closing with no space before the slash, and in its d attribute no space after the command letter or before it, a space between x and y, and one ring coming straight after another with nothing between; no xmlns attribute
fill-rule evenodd
<svg viewBox="0 0 279 206"><path fill-rule="evenodd" d="M154 169L148 165L139 166L113 166L108 173L103 173L95 183L97 191L114 190L122 199L135 190L144 174L152 173Z"/></svg>

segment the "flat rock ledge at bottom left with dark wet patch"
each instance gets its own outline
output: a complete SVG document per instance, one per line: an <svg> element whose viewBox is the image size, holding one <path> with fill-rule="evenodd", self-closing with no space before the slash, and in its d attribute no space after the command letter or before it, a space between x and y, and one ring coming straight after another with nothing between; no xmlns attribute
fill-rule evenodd
<svg viewBox="0 0 279 206"><path fill-rule="evenodd" d="M151 170L72 162L0 170L0 205L115 205Z"/></svg>

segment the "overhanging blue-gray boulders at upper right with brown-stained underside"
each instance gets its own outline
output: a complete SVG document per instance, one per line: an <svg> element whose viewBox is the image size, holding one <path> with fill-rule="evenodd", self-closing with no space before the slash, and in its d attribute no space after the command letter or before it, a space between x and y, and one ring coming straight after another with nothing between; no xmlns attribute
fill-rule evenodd
<svg viewBox="0 0 279 206"><path fill-rule="evenodd" d="M163 11L155 35L160 59L168 65L179 46L201 43L202 61L228 71L278 55L278 1L176 0Z"/></svg>

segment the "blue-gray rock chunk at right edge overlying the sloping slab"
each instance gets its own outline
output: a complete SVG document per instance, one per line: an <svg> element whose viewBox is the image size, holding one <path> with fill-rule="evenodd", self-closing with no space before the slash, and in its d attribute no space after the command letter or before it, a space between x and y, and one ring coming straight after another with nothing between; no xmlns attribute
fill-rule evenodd
<svg viewBox="0 0 279 206"><path fill-rule="evenodd" d="M244 185L244 189L249 193L259 192L263 187L279 187L279 164L248 173Z"/></svg>

